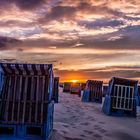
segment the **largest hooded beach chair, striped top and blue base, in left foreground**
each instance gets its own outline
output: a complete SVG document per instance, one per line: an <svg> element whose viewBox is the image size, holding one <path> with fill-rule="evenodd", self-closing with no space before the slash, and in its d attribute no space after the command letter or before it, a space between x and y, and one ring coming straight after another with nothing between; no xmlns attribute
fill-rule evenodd
<svg viewBox="0 0 140 140"><path fill-rule="evenodd" d="M15 139L48 140L53 129L52 88L51 64L0 63L0 139L4 132Z"/></svg>

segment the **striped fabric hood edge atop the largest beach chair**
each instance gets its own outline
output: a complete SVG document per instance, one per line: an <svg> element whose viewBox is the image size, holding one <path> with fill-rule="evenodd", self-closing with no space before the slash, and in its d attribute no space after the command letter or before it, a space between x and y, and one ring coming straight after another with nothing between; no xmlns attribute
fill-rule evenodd
<svg viewBox="0 0 140 140"><path fill-rule="evenodd" d="M0 69L6 74L48 75L52 64L11 64L0 63Z"/></svg>

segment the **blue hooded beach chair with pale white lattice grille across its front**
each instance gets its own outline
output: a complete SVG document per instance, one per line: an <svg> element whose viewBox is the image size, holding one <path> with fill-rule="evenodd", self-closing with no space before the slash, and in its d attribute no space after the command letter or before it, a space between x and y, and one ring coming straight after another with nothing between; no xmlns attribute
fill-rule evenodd
<svg viewBox="0 0 140 140"><path fill-rule="evenodd" d="M105 96L103 112L108 115L136 117L138 105L138 81L113 77Z"/></svg>

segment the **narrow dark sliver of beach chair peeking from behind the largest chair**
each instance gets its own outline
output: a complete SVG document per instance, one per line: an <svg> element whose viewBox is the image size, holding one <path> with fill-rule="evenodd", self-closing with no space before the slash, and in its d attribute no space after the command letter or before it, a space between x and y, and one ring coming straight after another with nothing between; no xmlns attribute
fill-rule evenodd
<svg viewBox="0 0 140 140"><path fill-rule="evenodd" d="M54 77L54 83L53 83L53 100L55 103L58 103L58 97L59 97L59 77Z"/></svg>

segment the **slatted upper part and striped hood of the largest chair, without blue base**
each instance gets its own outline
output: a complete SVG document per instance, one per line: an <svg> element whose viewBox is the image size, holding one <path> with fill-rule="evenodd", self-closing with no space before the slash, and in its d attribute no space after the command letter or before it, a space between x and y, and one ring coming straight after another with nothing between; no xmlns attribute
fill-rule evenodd
<svg viewBox="0 0 140 140"><path fill-rule="evenodd" d="M0 121L46 121L53 92L52 65L0 63L0 73Z"/></svg>

